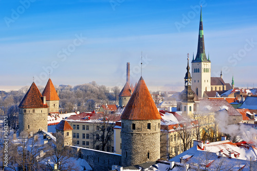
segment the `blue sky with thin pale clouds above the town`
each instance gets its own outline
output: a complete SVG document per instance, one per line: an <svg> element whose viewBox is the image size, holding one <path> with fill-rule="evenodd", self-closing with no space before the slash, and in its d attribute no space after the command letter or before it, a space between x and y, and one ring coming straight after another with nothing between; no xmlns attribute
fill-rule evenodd
<svg viewBox="0 0 257 171"><path fill-rule="evenodd" d="M187 53L196 54L203 6L212 77L257 86L256 1L0 1L0 89L143 78L151 90L181 90ZM66 49L66 51L65 51ZM208 54L207 54L208 55Z"/></svg>

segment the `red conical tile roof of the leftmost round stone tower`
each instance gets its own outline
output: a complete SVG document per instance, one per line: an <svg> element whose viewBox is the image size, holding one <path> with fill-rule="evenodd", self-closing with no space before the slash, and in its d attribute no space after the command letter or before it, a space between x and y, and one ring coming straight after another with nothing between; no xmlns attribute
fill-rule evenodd
<svg viewBox="0 0 257 171"><path fill-rule="evenodd" d="M22 102L19 105L20 108L43 108L48 107L47 104L43 104L43 96L40 93L38 87L33 82L25 94Z"/></svg>

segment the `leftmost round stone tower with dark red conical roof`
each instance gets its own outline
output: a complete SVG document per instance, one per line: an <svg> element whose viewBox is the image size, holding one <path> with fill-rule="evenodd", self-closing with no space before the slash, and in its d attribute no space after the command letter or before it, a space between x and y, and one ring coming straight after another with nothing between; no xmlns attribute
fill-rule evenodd
<svg viewBox="0 0 257 171"><path fill-rule="evenodd" d="M30 135L40 130L47 131L48 106L33 82L19 105L19 133L27 131Z"/></svg>

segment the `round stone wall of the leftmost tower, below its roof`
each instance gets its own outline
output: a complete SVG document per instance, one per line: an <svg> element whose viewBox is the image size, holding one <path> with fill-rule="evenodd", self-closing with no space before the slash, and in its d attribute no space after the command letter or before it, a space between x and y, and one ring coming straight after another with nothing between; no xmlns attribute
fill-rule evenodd
<svg viewBox="0 0 257 171"><path fill-rule="evenodd" d="M32 131L35 134L42 129L47 131L47 116L47 108L20 108L19 132Z"/></svg>

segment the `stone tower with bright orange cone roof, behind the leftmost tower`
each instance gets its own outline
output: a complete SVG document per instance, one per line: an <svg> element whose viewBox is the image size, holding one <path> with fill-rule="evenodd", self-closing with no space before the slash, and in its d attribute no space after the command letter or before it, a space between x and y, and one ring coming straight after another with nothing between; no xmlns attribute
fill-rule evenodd
<svg viewBox="0 0 257 171"><path fill-rule="evenodd" d="M48 113L59 112L59 93L54 88L51 79L48 80L42 96L46 97L46 104L49 107Z"/></svg>

